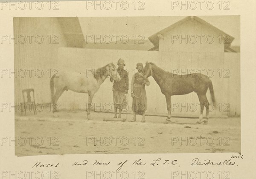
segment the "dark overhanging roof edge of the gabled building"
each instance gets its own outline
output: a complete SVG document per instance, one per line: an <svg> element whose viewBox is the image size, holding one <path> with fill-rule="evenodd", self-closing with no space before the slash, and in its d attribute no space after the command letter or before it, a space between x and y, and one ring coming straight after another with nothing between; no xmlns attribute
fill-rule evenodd
<svg viewBox="0 0 256 179"><path fill-rule="evenodd" d="M159 34L165 34L166 32L171 31L173 28L175 28L177 26L180 26L181 24L183 24L183 23L185 23L185 22L187 22L189 20L197 20L198 22L204 24L205 26L211 27L214 31L218 31L220 34L222 34L222 37L224 35L228 35L230 37L230 39L229 39L230 43L224 44L225 45L225 49L228 48L230 46L230 44L232 43L232 41L234 40L234 37L232 37L231 35L225 33L224 31L221 31L219 28L217 28L215 26L212 26L212 24L207 23L205 20L202 20L201 18L199 18L197 16L188 16L188 17L185 17L184 19L182 19L182 20L172 24L171 26L166 27L163 30L161 30L161 31L151 35L150 37L148 37L150 42L154 44L154 47L149 49L149 50L156 50L156 49L159 48Z"/></svg>

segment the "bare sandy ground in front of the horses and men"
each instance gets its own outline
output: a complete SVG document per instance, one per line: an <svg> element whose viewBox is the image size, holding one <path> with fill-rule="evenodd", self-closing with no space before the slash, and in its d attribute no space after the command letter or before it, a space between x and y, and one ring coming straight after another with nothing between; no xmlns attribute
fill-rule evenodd
<svg viewBox="0 0 256 179"><path fill-rule="evenodd" d="M212 118L208 125L195 125L197 119L137 116L128 122L131 114L123 114L126 122L106 122L109 113L91 113L88 121L85 111L60 111L58 117L50 112L38 115L15 116L15 155L86 153L214 153L240 152L240 117ZM24 141L26 144L24 144Z"/></svg>

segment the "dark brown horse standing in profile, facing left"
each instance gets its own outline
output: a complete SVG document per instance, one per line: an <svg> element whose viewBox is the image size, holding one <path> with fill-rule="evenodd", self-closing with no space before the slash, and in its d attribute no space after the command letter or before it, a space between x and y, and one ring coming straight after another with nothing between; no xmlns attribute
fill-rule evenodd
<svg viewBox="0 0 256 179"><path fill-rule="evenodd" d="M146 63L144 68L145 78L152 76L157 84L160 86L161 92L166 96L167 104L167 121L168 123L171 119L171 97L172 95L182 95L189 94L193 91L198 95L198 99L201 106L201 114L199 116L198 122L208 123L209 119L209 102L206 97L206 92L209 88L212 97L213 105L215 105L215 97L213 92L212 81L209 77L203 74L187 74L187 75L177 75L172 74L163 69L157 67L154 63ZM206 120L203 120L204 106L206 108Z"/></svg>

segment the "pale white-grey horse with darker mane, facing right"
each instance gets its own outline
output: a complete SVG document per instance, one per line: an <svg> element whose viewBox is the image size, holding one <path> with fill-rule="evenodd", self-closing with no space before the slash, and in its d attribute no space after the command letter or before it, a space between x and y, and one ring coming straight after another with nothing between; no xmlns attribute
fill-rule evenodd
<svg viewBox="0 0 256 179"><path fill-rule="evenodd" d="M117 82L121 79L113 63L109 63L108 65L96 70L87 69L86 71L86 73L61 71L57 76L52 76L50 80L50 88L52 94L53 113L56 111L56 102L65 90L71 90L77 93L87 93L87 118L90 120L91 103L93 96L99 90L100 85L107 77L112 77Z"/></svg>

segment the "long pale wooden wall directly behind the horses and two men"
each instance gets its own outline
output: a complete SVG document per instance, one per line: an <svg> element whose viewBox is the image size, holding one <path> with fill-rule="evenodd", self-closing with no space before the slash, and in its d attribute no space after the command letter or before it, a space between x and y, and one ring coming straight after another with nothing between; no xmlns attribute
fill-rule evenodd
<svg viewBox="0 0 256 179"><path fill-rule="evenodd" d="M212 112L214 116L230 116L240 114L240 54L211 53L211 52L167 52L167 51L127 51L127 50L99 50L60 48L58 65L60 70L86 71L86 68L99 68L107 63L116 64L119 58L125 60L125 68L129 71L129 78L134 74L136 63L146 61L156 63L160 68L169 72L185 73L200 72L211 77L217 108ZM214 74L212 74L212 72ZM224 76L225 75L225 76ZM166 114L166 101L159 86L152 77L151 85L146 86L148 97L148 113ZM131 91L129 90L129 96ZM211 101L209 91L207 92ZM236 96L234 98L233 96ZM129 105L131 106L130 98ZM87 94L64 92L59 103L62 108L85 108ZM104 106L112 104L112 83L107 79L96 93L93 103ZM174 116L198 116L200 105L195 93L172 97ZM229 108L226 104L228 103ZM178 108L177 108L178 105ZM196 105L196 110L195 109ZM182 106L184 108L182 108ZM104 109L103 109L104 110ZM129 110L131 111L131 109Z"/></svg>

